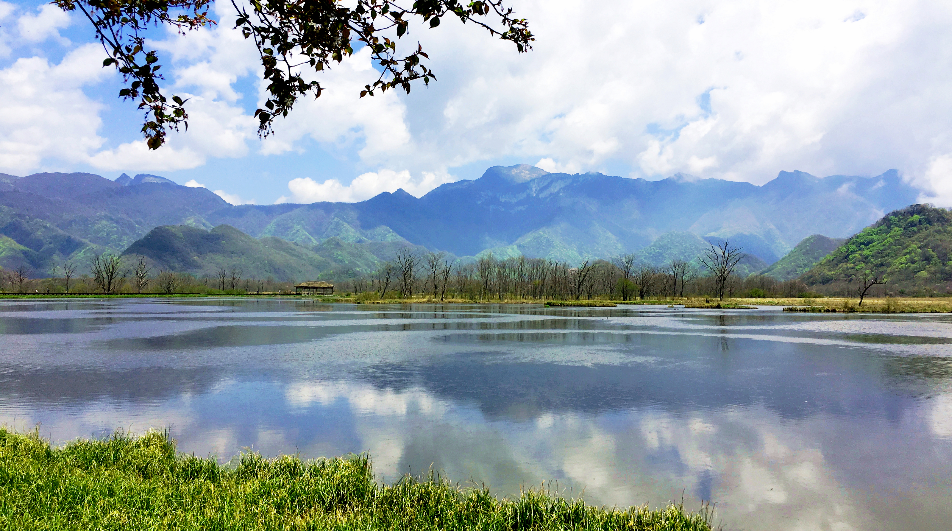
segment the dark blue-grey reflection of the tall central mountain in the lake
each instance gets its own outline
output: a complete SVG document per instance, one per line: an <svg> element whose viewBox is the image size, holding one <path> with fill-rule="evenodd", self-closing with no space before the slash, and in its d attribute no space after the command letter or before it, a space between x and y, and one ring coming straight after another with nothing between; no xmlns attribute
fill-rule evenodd
<svg viewBox="0 0 952 531"><path fill-rule="evenodd" d="M641 361L585 366L513 362L505 351L472 352L427 364L372 364L359 377L397 392L419 386L446 400L476 403L488 417L510 420L560 412L645 407L679 412L755 404L783 418L802 419L821 410L859 414L854 400L880 403L875 397L884 392L881 379L863 374L838 381L831 394L828 377L815 365L804 365L790 352L765 352L763 342L704 338L677 344L669 336L642 341L640 346L654 342L669 355L641 348L633 350Z"/></svg>

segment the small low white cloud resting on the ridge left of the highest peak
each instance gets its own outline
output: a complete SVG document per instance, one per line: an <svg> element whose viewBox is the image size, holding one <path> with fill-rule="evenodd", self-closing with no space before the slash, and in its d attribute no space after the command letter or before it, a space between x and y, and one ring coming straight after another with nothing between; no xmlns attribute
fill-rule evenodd
<svg viewBox="0 0 952 531"><path fill-rule="evenodd" d="M364 201L382 192L394 192L399 188L414 196L421 196L427 191L454 179L446 174L425 172L421 177L414 179L406 169L394 171L381 169L369 171L357 176L349 185L342 185L337 179L327 179L318 183L309 177L293 179L288 183L290 197L282 196L277 203L318 203L322 201L339 201L353 203Z"/></svg>

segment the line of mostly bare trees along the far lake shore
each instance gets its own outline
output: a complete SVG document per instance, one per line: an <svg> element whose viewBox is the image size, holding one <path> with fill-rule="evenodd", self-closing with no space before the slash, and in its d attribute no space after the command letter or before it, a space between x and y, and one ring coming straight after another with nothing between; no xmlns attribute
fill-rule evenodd
<svg viewBox="0 0 952 531"><path fill-rule="evenodd" d="M822 296L866 297L886 293L884 285L863 286L858 282L809 286L800 280L780 281L753 274L741 277L737 263L740 249L722 242L711 246L696 261L672 260L665 265L636 262L634 254L609 260L585 260L578 265L545 258L497 258L491 253L472 262L447 257L444 252L415 253L399 249L392 260L368 275L336 279L338 295L358 300L440 301L504 300L618 300L684 299L714 297L719 300L747 298L803 298ZM240 267L219 266L212 274L157 269L146 257L97 255L89 270L72 263L56 268L57 276L34 279L21 266L0 269L0 291L7 294L287 294L294 280L260 279L244 274ZM870 289L870 287L872 289ZM374 297L374 294L376 296Z"/></svg>

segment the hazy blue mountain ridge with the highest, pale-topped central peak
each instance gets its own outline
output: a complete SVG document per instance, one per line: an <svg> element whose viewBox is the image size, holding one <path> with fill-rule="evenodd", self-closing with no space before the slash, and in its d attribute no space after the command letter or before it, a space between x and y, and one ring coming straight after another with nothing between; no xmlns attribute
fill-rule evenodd
<svg viewBox="0 0 952 531"><path fill-rule="evenodd" d="M568 262L638 250L665 232L690 231L731 239L770 264L810 234L848 236L918 194L894 170L874 178L823 179L781 172L757 187L684 175L662 181L567 175L519 165L491 167L480 179L449 183L420 199L397 190L352 205L233 207L208 219L305 244L328 236L372 240L367 233L384 227L413 244L459 256L518 249Z"/></svg>

